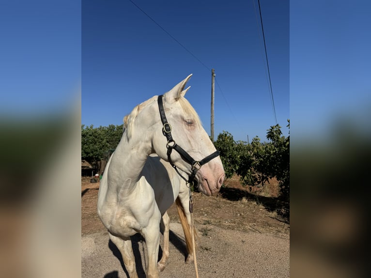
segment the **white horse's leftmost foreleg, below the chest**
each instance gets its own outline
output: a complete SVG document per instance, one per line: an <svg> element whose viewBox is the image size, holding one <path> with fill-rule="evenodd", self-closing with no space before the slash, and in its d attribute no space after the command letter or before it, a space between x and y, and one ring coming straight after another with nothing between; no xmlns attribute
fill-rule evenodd
<svg viewBox="0 0 371 278"><path fill-rule="evenodd" d="M129 274L129 277L138 278L130 237L120 238L112 235L110 232L108 232L108 235L109 239L116 245L116 247L119 249L121 253L121 256L123 257L124 265L126 271Z"/></svg>

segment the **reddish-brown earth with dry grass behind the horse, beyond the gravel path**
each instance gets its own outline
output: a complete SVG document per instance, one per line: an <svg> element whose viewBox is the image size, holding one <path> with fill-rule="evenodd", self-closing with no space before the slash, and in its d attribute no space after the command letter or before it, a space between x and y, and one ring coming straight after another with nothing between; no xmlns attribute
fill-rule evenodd
<svg viewBox="0 0 371 278"><path fill-rule="evenodd" d="M96 214L96 201L99 183L91 184L91 177L81 178L81 225L82 234L96 231L105 231ZM277 203L277 198L254 195L240 185L238 177L225 182L216 196L205 196L193 192L193 213L195 225L200 232L209 233L206 225L215 225L225 229L243 232L272 233L277 236L287 237L290 234L288 222L282 218L283 213ZM273 182L266 186L266 194L273 196L278 192ZM277 186L278 187L278 186ZM176 206L168 210L170 220L179 222Z"/></svg>

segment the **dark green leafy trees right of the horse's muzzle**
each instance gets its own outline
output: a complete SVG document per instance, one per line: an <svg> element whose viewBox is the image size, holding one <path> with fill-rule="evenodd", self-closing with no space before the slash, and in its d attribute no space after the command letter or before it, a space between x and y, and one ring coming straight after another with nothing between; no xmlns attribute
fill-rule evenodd
<svg viewBox="0 0 371 278"><path fill-rule="evenodd" d="M290 128L290 121L288 120ZM261 185L269 178L276 177L279 182L280 197L289 201L290 190L290 136L282 136L281 127L276 124L267 130L268 142L259 137L250 144L235 142L233 136L223 131L215 141L220 152L227 178L233 173L240 176L243 185Z"/></svg>

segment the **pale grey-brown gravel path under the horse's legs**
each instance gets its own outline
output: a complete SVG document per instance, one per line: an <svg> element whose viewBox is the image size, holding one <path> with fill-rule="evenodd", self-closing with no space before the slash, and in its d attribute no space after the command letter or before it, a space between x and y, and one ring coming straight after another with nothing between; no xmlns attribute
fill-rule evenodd
<svg viewBox="0 0 371 278"><path fill-rule="evenodd" d="M213 225L196 225L199 232L197 262L200 278L285 278L290 277L288 236L225 230ZM207 233L207 235L205 235ZM185 244L179 223L170 223L170 257L161 278L195 277L193 264L185 263ZM145 278L145 242L139 235L132 240L139 278ZM162 238L160 245L162 246ZM140 258L139 258L140 253ZM161 254L161 247L160 247ZM82 278L126 278L118 249L107 232L81 238Z"/></svg>

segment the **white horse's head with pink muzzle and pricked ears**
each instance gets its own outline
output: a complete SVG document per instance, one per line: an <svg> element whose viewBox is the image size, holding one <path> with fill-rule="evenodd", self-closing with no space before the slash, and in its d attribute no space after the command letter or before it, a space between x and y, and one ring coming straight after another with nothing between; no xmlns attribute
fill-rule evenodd
<svg viewBox="0 0 371 278"><path fill-rule="evenodd" d="M186 77L163 96L158 96L162 97L163 112L160 108L161 126L156 124L153 148L156 154L169 161L173 167L181 169L188 176L195 175L199 190L210 196L219 191L225 174L213 142L203 129L197 112L184 97L190 88L185 89L191 76ZM160 102L158 105L160 106ZM164 116L161 116L161 113ZM167 124L164 124L164 121L167 121ZM169 132L170 137L167 134ZM169 147L174 146L177 146L176 151L169 155ZM196 165L193 165L194 163Z"/></svg>

